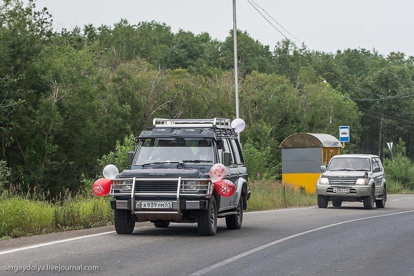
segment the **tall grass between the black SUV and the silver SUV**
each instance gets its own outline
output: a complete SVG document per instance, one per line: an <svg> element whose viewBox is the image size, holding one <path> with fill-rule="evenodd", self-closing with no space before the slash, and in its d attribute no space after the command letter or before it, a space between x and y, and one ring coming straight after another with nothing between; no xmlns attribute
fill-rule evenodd
<svg viewBox="0 0 414 276"><path fill-rule="evenodd" d="M316 195L296 190L280 181L256 180L249 183L251 198L248 211L271 210L287 207L311 206L317 203Z"/></svg>

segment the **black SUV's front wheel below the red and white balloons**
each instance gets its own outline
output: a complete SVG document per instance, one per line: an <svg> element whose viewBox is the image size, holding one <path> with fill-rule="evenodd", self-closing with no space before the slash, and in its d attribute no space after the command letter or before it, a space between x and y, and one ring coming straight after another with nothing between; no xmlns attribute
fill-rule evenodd
<svg viewBox="0 0 414 276"><path fill-rule="evenodd" d="M214 236L217 231L217 205L212 197L208 202L207 210L197 213L198 232L202 236Z"/></svg>

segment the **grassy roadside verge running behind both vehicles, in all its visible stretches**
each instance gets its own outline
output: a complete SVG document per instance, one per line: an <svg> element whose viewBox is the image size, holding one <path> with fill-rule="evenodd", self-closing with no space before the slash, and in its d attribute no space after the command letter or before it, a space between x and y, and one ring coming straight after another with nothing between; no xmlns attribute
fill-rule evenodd
<svg viewBox="0 0 414 276"><path fill-rule="evenodd" d="M312 206L314 194L307 194L283 185L280 181L256 180L249 183L251 198L247 211ZM412 193L398 182L388 183L388 194ZM0 240L65 230L76 230L112 224L113 212L109 197L66 193L46 200L39 193L22 193L16 189L0 196Z"/></svg>

